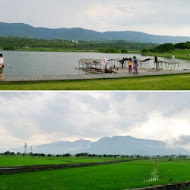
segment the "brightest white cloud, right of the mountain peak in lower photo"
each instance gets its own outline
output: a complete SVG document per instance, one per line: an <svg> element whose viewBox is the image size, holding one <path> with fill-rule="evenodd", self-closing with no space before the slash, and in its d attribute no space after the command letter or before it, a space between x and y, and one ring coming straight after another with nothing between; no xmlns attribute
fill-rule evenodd
<svg viewBox="0 0 190 190"><path fill-rule="evenodd" d="M168 118L155 112L141 126L137 124L130 129L128 134L137 138L148 138L172 143L173 139L181 135L190 135L189 122L188 116Z"/></svg>

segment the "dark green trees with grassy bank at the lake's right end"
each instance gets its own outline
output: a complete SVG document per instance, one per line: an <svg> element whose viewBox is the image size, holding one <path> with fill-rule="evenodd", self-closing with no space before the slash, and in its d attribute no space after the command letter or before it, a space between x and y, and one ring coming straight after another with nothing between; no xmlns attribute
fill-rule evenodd
<svg viewBox="0 0 190 190"><path fill-rule="evenodd" d="M190 59L190 42L171 44L166 43L155 48L143 49L142 55L171 58L175 55L178 59Z"/></svg>

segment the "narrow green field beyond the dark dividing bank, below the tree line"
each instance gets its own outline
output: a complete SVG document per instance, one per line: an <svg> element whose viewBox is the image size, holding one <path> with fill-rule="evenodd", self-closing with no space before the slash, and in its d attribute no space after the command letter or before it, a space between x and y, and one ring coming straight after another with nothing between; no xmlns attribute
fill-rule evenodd
<svg viewBox="0 0 190 190"><path fill-rule="evenodd" d="M50 164L72 164L72 163L89 163L89 162L104 162L116 160L114 158L63 158L63 157L11 157L1 156L0 167L8 166L31 166L31 165L50 165Z"/></svg>

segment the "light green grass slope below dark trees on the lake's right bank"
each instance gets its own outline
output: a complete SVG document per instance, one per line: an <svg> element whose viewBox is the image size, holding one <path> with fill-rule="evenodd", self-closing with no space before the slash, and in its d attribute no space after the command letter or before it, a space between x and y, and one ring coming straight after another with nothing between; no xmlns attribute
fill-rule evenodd
<svg viewBox="0 0 190 190"><path fill-rule="evenodd" d="M143 55L149 55L149 56L159 56L159 57L167 57L167 58L171 58L172 55L174 54L176 56L176 58L178 59L190 59L190 57L188 56L188 54L190 53L190 49L188 50L174 50L171 52L165 52L165 53L144 53Z"/></svg>

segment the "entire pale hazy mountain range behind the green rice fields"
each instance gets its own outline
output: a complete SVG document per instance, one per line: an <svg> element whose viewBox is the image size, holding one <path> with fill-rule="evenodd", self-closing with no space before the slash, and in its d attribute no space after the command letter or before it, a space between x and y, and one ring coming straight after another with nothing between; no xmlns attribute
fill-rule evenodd
<svg viewBox="0 0 190 190"><path fill-rule="evenodd" d="M23 152L24 148L11 151ZM78 140L75 142L60 141L52 144L36 146L34 153L44 154L111 154L111 155L190 155L183 148L168 147L164 142L136 139L130 136L104 137L96 142Z"/></svg>

